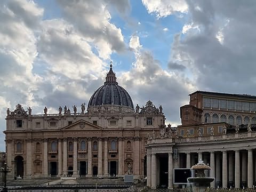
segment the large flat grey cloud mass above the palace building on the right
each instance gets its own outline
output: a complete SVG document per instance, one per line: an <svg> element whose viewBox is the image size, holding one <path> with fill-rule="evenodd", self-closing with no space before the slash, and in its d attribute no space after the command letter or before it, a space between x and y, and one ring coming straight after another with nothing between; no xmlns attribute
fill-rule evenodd
<svg viewBox="0 0 256 192"><path fill-rule="evenodd" d="M186 66L200 90L256 94L256 2L187 1L197 32L172 46L172 60ZM247 18L247 19L246 19Z"/></svg>

